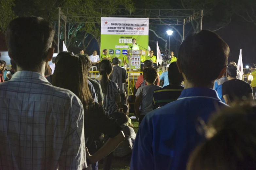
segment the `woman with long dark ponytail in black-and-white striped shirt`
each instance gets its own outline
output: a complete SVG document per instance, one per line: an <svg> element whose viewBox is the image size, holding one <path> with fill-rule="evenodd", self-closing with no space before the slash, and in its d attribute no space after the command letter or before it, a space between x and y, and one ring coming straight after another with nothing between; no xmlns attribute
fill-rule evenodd
<svg viewBox="0 0 256 170"><path fill-rule="evenodd" d="M113 64L109 60L102 60L99 65L99 78L95 81L100 83L104 95L103 108L111 116L118 110L117 104L121 101L118 85L109 79L113 71Z"/></svg>

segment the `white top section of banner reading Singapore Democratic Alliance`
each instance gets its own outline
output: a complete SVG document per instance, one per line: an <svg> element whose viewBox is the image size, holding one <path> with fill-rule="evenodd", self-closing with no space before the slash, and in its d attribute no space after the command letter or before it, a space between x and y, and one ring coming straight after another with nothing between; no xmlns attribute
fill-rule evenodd
<svg viewBox="0 0 256 170"><path fill-rule="evenodd" d="M148 35L148 31L149 18L101 17L101 34Z"/></svg>

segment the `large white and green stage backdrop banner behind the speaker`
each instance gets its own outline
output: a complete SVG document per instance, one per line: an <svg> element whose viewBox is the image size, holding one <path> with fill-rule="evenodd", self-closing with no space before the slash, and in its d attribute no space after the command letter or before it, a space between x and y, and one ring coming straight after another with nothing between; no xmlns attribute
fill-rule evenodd
<svg viewBox="0 0 256 170"><path fill-rule="evenodd" d="M117 57L124 65L123 57L128 55L133 38L141 46L140 50L145 50L142 47L148 47L148 31L148 18L101 17L100 56L103 50L107 49L111 59Z"/></svg>

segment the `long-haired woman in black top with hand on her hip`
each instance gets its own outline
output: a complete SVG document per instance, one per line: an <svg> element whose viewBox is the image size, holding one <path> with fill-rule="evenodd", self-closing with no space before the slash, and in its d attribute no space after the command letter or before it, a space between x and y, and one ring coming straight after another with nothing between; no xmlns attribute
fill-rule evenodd
<svg viewBox="0 0 256 170"><path fill-rule="evenodd" d="M87 83L87 67L83 62L83 58L75 55L65 56L56 64L54 74L52 76L52 85L68 89L75 93L84 106L84 134L85 143L90 155L87 152L88 167L91 163L97 169L97 161L101 160L111 153L124 139L124 134L120 126L111 119L104 109L97 103L90 93ZM109 140L101 147L95 146L97 138L109 135Z"/></svg>

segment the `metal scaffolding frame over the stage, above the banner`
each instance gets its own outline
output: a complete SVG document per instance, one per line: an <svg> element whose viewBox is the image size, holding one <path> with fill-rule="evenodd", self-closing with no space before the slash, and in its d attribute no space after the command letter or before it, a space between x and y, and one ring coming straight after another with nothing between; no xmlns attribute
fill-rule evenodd
<svg viewBox="0 0 256 170"><path fill-rule="evenodd" d="M81 14L73 15L73 11L81 11ZM196 9L125 9L125 8L60 8L58 21L58 53L60 48L60 19L64 21L64 42L66 44L66 23L97 23L101 17L129 17L149 18L149 25L183 25L183 40L185 25L191 21L200 19L202 30L203 10ZM89 20L89 21L88 21Z"/></svg>

